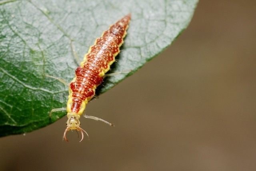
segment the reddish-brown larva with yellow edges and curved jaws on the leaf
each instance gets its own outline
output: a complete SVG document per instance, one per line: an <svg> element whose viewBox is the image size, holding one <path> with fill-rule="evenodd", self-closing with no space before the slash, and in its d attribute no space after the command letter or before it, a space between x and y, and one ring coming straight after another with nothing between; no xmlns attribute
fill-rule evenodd
<svg viewBox="0 0 256 171"><path fill-rule="evenodd" d="M66 108L52 109L52 111L67 111L68 121L64 131L63 139L68 141L66 133L69 130L80 131L82 139L84 133L88 133L80 127L80 115L84 112L86 104L95 94L95 89L103 82L106 72L110 70L110 66L115 61L115 57L120 52L119 48L124 42L126 30L131 19L131 14L128 14L118 20L110 28L103 32L100 38L97 38L94 45L84 55L84 60L76 69L76 76L69 84L69 96ZM51 111L51 112L52 112ZM114 126L103 119L95 116L85 115L86 118L100 120L108 125ZM84 133L83 133L84 132Z"/></svg>

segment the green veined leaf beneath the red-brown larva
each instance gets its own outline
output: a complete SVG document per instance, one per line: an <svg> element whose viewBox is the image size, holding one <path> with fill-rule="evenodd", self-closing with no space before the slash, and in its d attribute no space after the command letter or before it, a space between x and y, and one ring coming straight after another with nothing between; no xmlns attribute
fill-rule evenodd
<svg viewBox="0 0 256 171"><path fill-rule="evenodd" d="M167 48L188 26L198 0L2 0L0 1L0 136L26 133L53 123L65 112L68 87L94 40L131 13L118 62L101 94Z"/></svg>

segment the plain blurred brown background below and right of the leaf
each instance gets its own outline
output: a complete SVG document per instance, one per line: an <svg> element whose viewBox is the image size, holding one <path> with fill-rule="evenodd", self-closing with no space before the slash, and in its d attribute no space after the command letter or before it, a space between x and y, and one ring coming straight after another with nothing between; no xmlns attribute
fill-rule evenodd
<svg viewBox="0 0 256 171"><path fill-rule="evenodd" d="M0 139L0 170L255 171L256 1L201 0L188 29L88 105L90 141L66 117Z"/></svg>

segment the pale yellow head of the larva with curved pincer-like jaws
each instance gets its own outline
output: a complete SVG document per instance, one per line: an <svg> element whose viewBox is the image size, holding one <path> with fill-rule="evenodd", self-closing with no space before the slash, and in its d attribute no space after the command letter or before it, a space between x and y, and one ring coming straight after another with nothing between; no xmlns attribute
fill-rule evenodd
<svg viewBox="0 0 256 171"><path fill-rule="evenodd" d="M79 141L79 142L81 142L84 139L84 133L83 133L84 129L82 129L80 127L80 125L81 125L80 121L79 121L80 115L78 115L77 113L68 113L67 116L68 116L68 121L66 123L67 128L64 131L63 139L68 141L68 139L66 138L67 131L69 131L69 130L76 130L76 131L80 131L81 132L82 139ZM86 131L84 131L84 132L89 137L88 133Z"/></svg>

